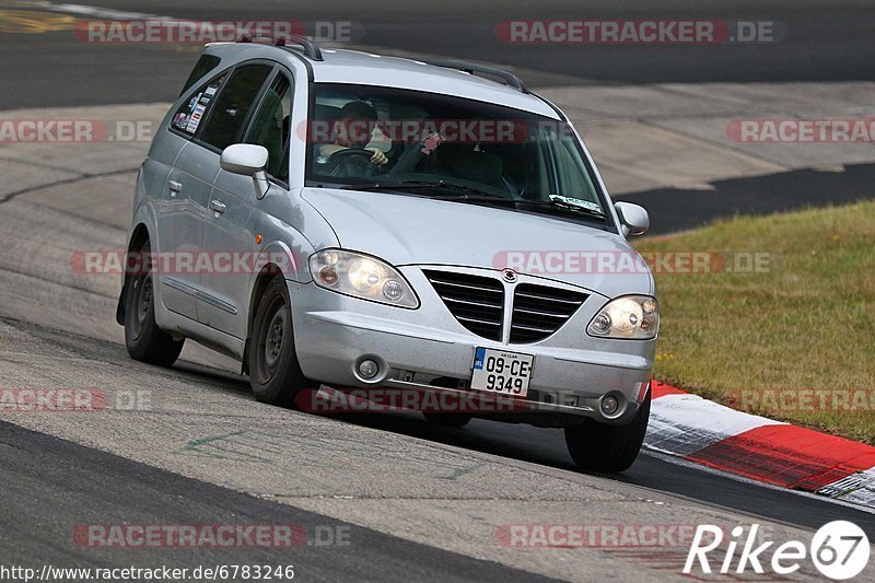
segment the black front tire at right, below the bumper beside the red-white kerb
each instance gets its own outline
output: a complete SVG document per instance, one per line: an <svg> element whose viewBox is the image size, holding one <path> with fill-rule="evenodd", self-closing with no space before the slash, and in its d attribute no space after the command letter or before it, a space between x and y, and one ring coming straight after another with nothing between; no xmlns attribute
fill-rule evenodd
<svg viewBox="0 0 875 583"><path fill-rule="evenodd" d="M650 390L632 421L608 425L587 419L582 425L565 428L565 444L572 459L584 471L619 474L638 457L650 419Z"/></svg>

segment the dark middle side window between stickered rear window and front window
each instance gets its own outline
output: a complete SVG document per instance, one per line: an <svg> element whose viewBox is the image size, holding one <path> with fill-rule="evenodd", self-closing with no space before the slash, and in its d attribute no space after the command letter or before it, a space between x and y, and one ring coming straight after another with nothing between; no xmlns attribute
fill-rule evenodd
<svg viewBox="0 0 875 583"><path fill-rule="evenodd" d="M235 69L215 98L200 139L219 150L235 143L253 102L272 70L270 65L246 65Z"/></svg>

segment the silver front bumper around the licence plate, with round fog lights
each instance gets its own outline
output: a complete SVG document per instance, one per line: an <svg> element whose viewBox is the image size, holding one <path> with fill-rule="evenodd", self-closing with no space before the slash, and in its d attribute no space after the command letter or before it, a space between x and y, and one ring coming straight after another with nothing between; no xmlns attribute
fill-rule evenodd
<svg viewBox="0 0 875 583"><path fill-rule="evenodd" d="M338 388L381 387L464 396L470 390L467 382L474 351L486 347L533 354L535 361L526 398L512 399L511 412L478 417L545 427L579 423L587 417L622 423L645 397L655 339L606 340L586 335L586 325L607 298L592 294L545 340L503 343L464 328L419 268L407 267L402 272L419 294L418 310L347 298L313 283L289 282L295 347L307 377ZM355 371L364 358L380 365L370 381ZM606 395L622 403L622 410L610 419L599 407Z"/></svg>

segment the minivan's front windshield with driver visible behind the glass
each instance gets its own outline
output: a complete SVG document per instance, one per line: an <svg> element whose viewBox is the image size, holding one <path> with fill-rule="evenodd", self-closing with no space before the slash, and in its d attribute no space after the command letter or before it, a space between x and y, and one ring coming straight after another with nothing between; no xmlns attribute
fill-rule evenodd
<svg viewBox="0 0 875 583"><path fill-rule="evenodd" d="M370 85L314 85L306 183L608 224L570 126L490 103Z"/></svg>

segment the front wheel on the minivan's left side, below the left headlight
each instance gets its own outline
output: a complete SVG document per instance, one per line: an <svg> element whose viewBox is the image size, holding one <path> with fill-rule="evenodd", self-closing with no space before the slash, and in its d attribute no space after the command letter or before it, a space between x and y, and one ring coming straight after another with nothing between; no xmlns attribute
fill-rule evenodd
<svg viewBox="0 0 875 583"><path fill-rule="evenodd" d="M298 362L292 331L291 302L281 277L268 283L255 312L247 360L255 398L278 407L295 408L295 397L313 385Z"/></svg>

